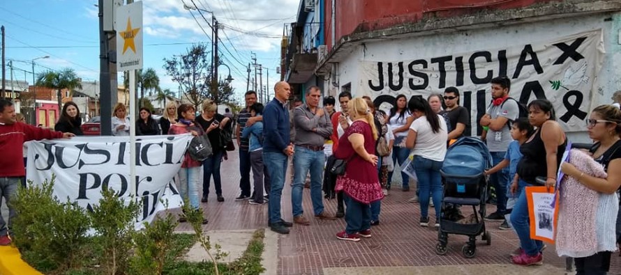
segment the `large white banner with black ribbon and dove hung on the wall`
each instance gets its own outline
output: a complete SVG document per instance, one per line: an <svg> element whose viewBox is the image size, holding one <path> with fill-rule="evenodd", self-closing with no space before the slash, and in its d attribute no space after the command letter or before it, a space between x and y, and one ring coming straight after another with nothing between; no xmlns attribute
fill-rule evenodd
<svg viewBox="0 0 621 275"><path fill-rule="evenodd" d="M491 79L506 76L509 96L524 104L548 99L567 132L584 131L603 56L601 30L502 49L451 54L438 49L437 56L360 61L357 93L375 98L375 106L385 110L398 94L426 98L455 86L460 105L470 110L472 132L465 134L474 136L481 134L474 126L491 102Z"/></svg>

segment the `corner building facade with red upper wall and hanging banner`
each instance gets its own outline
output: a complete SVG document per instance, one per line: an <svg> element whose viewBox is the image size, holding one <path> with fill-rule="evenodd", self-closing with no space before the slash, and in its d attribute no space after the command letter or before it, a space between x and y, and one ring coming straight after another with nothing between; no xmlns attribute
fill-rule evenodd
<svg viewBox="0 0 621 275"><path fill-rule="evenodd" d="M584 119L620 90L620 1L326 0L323 22L315 79L384 110L455 86L478 125L490 80L506 76L511 97L551 100L570 138L589 141Z"/></svg>

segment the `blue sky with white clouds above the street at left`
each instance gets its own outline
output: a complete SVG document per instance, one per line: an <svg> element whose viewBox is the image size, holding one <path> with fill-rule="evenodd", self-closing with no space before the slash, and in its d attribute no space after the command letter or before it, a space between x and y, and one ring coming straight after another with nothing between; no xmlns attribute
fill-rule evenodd
<svg viewBox="0 0 621 275"><path fill-rule="evenodd" d="M11 77L8 61L12 61L13 78L26 79L31 84L31 61L50 56L35 61L35 74L73 68L84 81L99 81L98 0L0 0L0 3L0 24L6 31L7 79ZM184 8L184 3L213 11L224 25L220 29L223 45L219 49L224 63L231 68L232 86L240 102L246 92L247 65L253 63L251 53L264 67L263 85L273 86L280 80L276 71L280 67L280 38L284 24L295 21L299 0L144 0L143 69L154 68L162 88L175 93L179 90L179 85L163 69L163 58L184 54L193 43L211 44L211 29L197 10ZM202 15L211 19L209 13ZM269 79L265 68L269 70ZM220 77L225 78L227 74L227 68L220 66ZM122 83L119 79L119 84Z"/></svg>

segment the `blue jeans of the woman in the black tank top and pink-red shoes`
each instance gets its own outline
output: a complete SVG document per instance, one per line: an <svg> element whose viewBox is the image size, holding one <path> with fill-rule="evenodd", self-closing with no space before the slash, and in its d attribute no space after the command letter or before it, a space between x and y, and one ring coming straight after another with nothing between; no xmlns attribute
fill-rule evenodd
<svg viewBox="0 0 621 275"><path fill-rule="evenodd" d="M522 191L511 210L511 226L520 238L520 247L524 249L529 256L536 256L544 243L530 238L528 203L526 201L526 192Z"/></svg>

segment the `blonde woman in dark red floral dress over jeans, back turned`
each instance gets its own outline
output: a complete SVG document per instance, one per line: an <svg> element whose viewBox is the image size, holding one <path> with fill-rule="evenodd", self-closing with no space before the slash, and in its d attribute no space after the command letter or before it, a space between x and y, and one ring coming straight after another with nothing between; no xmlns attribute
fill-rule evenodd
<svg viewBox="0 0 621 275"><path fill-rule="evenodd" d="M347 109L353 123L345 129L334 152L337 159L347 159L345 174L336 178L336 191L343 191L347 205L347 228L337 233L336 238L357 242L360 237L371 237L369 205L381 200L384 194L377 178L377 129L373 113L362 98L350 100Z"/></svg>

